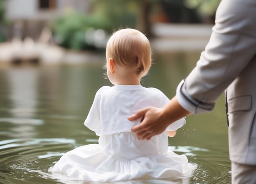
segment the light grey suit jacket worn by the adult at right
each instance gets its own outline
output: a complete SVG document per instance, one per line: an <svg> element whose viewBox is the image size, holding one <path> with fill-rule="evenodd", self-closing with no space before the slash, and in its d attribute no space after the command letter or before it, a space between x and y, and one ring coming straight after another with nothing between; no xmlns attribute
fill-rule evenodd
<svg viewBox="0 0 256 184"><path fill-rule="evenodd" d="M211 111L224 90L230 160L256 165L256 0L221 1L210 41L177 99L198 114Z"/></svg>

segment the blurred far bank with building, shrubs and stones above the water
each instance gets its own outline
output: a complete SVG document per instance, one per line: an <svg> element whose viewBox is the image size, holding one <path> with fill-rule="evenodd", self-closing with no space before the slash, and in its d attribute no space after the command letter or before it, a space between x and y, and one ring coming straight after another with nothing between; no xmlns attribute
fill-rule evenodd
<svg viewBox="0 0 256 184"><path fill-rule="evenodd" d="M0 0L0 64L72 62L67 56L83 62L72 51L102 51L109 35L126 27L146 34L156 51L202 50L219 2Z"/></svg>

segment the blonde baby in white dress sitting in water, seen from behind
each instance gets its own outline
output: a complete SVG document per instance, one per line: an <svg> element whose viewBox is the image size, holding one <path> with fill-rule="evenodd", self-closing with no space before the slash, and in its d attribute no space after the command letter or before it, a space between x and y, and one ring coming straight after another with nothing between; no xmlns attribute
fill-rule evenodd
<svg viewBox="0 0 256 184"><path fill-rule="evenodd" d="M160 108L169 102L159 89L140 84L151 67L148 39L135 29L121 29L110 37L106 59L108 79L114 86L97 91L84 122L99 136L99 143L65 153L50 171L64 172L72 180L96 182L183 176L189 165L187 157L168 150L167 135L174 136L185 120L172 123L165 133L138 140L131 128L141 119L127 119L136 110Z"/></svg>

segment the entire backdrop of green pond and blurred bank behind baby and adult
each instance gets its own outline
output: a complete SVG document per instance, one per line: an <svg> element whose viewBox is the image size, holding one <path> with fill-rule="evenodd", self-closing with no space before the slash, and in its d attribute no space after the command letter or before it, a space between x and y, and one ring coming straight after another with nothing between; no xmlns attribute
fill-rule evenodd
<svg viewBox="0 0 256 184"><path fill-rule="evenodd" d="M112 85L102 66L113 31L129 27L146 34L154 64L141 84L172 98L210 38L219 3L0 0L0 183L70 183L48 169L65 152L97 143L83 122L97 90ZM222 95L213 112L187 117L169 138L169 149L197 168L189 181L132 183L231 183L224 104Z"/></svg>

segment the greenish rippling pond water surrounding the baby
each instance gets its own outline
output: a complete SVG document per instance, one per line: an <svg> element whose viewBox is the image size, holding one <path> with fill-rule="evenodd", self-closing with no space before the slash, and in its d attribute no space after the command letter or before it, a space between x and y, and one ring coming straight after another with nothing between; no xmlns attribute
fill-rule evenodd
<svg viewBox="0 0 256 184"><path fill-rule="evenodd" d="M199 53L155 56L150 74L142 85L157 87L168 97L185 78ZM97 136L84 127L93 97L104 79L104 57L95 64L66 66L12 66L0 69L0 183L82 184L58 181L48 172L65 152L97 143ZM212 113L191 115L169 138L169 149L185 154L197 169L191 184L228 184L228 128L224 97ZM119 182L122 184L181 184L186 180ZM118 183L118 184L119 184Z"/></svg>

